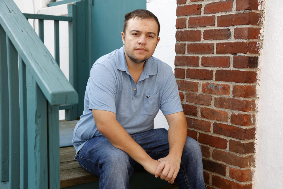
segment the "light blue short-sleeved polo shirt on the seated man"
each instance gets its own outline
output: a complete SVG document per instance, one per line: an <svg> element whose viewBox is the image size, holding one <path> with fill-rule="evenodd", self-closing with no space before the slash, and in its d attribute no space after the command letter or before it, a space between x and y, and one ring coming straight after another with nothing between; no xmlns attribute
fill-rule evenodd
<svg viewBox="0 0 283 189"><path fill-rule="evenodd" d="M164 115L183 111L171 67L150 57L136 84L128 70L124 46L102 56L91 68L83 115L72 140L76 153L88 139L102 135L92 109L116 113L117 121L129 134L153 129L159 109Z"/></svg>

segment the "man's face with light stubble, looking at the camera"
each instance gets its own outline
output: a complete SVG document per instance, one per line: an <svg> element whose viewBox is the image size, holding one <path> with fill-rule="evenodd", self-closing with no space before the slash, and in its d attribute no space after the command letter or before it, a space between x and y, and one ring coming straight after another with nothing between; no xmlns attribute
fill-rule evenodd
<svg viewBox="0 0 283 189"><path fill-rule="evenodd" d="M152 56L160 38L157 36L158 25L154 19L128 20L126 33L122 32L122 40L126 60L143 63Z"/></svg>

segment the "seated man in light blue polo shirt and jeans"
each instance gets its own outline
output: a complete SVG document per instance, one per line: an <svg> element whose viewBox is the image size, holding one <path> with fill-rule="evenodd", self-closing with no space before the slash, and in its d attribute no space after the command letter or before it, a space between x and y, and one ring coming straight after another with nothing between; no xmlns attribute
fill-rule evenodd
<svg viewBox="0 0 283 189"><path fill-rule="evenodd" d="M80 165L100 177L100 188L129 188L134 170L177 181L179 188L205 188L200 147L187 137L172 69L152 57L159 30L147 10L126 14L124 46L99 58L90 71L72 142ZM159 109L168 132L153 129Z"/></svg>

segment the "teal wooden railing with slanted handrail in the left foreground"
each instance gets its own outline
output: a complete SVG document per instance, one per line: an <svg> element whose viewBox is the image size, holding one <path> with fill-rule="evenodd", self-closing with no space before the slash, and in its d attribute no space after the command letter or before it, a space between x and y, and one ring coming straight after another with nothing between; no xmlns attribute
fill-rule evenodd
<svg viewBox="0 0 283 189"><path fill-rule="evenodd" d="M60 188L58 110L78 94L16 4L0 7L0 188Z"/></svg>

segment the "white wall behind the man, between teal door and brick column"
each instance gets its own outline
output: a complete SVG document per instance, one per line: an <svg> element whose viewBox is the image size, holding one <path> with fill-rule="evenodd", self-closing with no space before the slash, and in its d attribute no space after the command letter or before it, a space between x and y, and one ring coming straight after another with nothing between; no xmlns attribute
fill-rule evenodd
<svg viewBox="0 0 283 189"><path fill-rule="evenodd" d="M165 63L169 64L174 71L175 65L175 32L176 30L176 1L172 0L147 0L147 10L155 14L160 23L160 41L153 54ZM167 128L167 121L159 110L154 119L154 128Z"/></svg>

